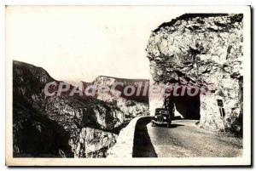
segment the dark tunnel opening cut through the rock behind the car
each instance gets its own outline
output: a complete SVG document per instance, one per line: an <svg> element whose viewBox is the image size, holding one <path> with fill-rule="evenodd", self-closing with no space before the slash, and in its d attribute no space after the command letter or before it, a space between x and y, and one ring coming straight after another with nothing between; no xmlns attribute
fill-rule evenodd
<svg viewBox="0 0 256 171"><path fill-rule="evenodd" d="M169 95L165 99L165 107L173 113L173 117L177 117L175 114L179 114L184 119L200 120L200 106L200 94L195 96L187 94L184 96Z"/></svg>

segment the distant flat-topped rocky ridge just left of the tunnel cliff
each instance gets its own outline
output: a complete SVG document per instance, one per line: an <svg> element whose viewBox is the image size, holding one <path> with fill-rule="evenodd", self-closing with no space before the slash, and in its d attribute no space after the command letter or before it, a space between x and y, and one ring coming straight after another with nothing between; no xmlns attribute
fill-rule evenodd
<svg viewBox="0 0 256 171"><path fill-rule="evenodd" d="M148 116L148 80L145 79L124 79L117 77L97 77L93 82L97 87L102 85L113 88L115 83L122 83L123 85L117 85L114 87L116 94L112 94L111 91L102 94L96 94L96 99L111 102L117 105L125 115L125 121L130 121L133 117ZM124 94L125 87L133 87L134 94Z"/></svg>

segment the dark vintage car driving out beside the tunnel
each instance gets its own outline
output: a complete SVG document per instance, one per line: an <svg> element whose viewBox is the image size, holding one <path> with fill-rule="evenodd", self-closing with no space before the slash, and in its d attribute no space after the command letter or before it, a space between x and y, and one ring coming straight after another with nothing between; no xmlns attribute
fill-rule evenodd
<svg viewBox="0 0 256 171"><path fill-rule="evenodd" d="M166 127L170 127L172 123L172 117L170 115L170 111L166 108L156 108L154 112L154 117L151 121L152 126L155 125L165 125Z"/></svg>

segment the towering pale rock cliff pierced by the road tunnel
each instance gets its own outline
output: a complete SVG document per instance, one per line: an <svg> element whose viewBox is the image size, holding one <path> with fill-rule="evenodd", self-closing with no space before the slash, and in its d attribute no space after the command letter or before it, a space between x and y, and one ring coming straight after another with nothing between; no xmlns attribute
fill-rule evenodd
<svg viewBox="0 0 256 171"><path fill-rule="evenodd" d="M241 133L242 19L242 14L183 14L149 37L151 85L185 82L209 88L200 96L204 128L223 129L217 104L223 100L225 128ZM151 113L163 100L150 97Z"/></svg>

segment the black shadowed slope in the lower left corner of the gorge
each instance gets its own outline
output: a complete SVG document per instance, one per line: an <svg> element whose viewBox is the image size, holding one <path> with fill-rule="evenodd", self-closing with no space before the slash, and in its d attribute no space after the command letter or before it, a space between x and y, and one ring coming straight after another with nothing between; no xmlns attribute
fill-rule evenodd
<svg viewBox="0 0 256 171"><path fill-rule="evenodd" d="M30 105L14 101L14 157L73 157L70 134Z"/></svg>

